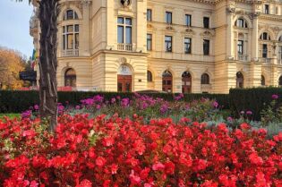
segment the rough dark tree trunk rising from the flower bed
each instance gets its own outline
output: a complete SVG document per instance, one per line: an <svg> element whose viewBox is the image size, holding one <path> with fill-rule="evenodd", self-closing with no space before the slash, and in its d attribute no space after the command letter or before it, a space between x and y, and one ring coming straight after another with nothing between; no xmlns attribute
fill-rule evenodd
<svg viewBox="0 0 282 187"><path fill-rule="evenodd" d="M49 131L54 132L57 117L56 82L56 34L58 0L39 1L39 21L41 27L39 50L39 97L41 119L49 123Z"/></svg>

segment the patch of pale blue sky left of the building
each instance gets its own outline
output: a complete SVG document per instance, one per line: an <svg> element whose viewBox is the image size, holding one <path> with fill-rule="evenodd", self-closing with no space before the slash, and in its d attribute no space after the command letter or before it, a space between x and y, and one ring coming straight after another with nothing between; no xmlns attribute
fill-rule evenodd
<svg viewBox="0 0 282 187"><path fill-rule="evenodd" d="M33 43L30 37L30 16L33 7L28 0L0 0L0 46L32 55Z"/></svg>

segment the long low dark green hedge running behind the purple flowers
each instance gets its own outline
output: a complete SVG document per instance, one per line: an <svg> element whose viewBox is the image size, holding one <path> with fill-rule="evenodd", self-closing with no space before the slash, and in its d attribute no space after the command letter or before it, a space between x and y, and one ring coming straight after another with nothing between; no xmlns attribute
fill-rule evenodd
<svg viewBox="0 0 282 187"><path fill-rule="evenodd" d="M95 95L102 95L109 100L110 98L120 96L121 98L132 98L133 93L117 93L117 92L83 92L70 91L58 92L58 102L70 105L80 104L81 99L90 98ZM167 93L146 93L145 95L154 98L164 98L168 101L174 100L174 94ZM193 99L210 98L216 99L220 106L229 108L229 98L227 94L185 94L185 101L192 101ZM21 113L39 103L38 91L11 91L0 90L0 113Z"/></svg>

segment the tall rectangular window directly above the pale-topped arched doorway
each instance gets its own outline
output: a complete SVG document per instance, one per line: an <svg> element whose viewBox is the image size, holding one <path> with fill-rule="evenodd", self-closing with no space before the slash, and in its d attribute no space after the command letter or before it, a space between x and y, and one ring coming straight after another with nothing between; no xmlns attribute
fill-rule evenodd
<svg viewBox="0 0 282 187"><path fill-rule="evenodd" d="M117 18L117 43L132 44L132 19Z"/></svg>

